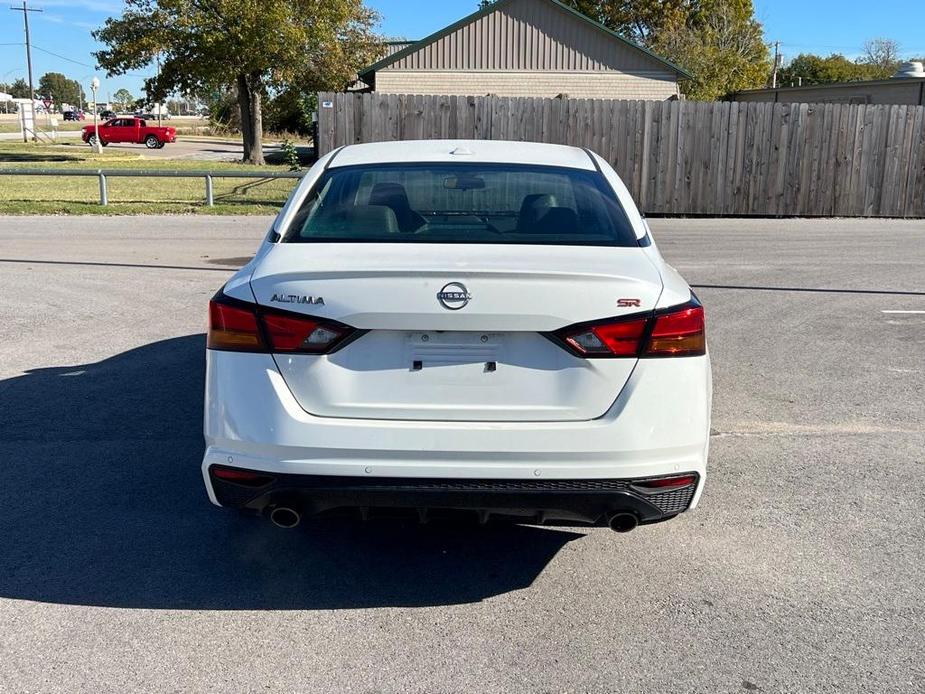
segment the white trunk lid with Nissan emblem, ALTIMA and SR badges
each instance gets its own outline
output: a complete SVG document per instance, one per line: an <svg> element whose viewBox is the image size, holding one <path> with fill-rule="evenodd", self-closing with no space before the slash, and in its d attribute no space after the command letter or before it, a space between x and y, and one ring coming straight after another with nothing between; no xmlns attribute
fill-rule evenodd
<svg viewBox="0 0 925 694"><path fill-rule="evenodd" d="M274 247L251 286L261 305L367 331L275 356L312 414L574 421L606 412L636 360L582 359L545 334L651 310L662 284L638 248L302 243Z"/></svg>

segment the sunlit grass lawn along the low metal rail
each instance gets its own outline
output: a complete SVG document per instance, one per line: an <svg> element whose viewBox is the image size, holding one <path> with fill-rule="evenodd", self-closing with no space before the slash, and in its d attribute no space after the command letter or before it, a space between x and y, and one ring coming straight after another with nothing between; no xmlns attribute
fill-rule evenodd
<svg viewBox="0 0 925 694"><path fill-rule="evenodd" d="M285 166L145 159L128 152L95 154L89 147L0 142L0 168L253 171L254 178L213 179L215 206L205 205L202 178L110 177L109 205L99 204L99 180L76 176L0 175L0 214L272 214L297 179L261 179Z"/></svg>

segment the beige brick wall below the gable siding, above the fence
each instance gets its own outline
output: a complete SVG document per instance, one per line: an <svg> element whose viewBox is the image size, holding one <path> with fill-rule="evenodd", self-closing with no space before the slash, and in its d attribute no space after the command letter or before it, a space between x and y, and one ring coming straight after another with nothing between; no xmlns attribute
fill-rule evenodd
<svg viewBox="0 0 925 694"><path fill-rule="evenodd" d="M568 94L574 99L651 99L678 93L670 72L514 72L380 70L376 91L384 94L456 94L459 96L541 96Z"/></svg>

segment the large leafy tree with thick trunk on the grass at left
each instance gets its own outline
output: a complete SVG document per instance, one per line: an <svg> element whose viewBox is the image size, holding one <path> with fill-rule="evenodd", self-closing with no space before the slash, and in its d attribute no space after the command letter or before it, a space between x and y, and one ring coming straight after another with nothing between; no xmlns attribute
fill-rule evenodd
<svg viewBox="0 0 925 694"><path fill-rule="evenodd" d="M372 62L378 15L363 0L126 0L94 38L110 75L142 69L160 57L145 81L149 99L174 91L233 89L244 161L263 161L263 100L298 84L343 89Z"/></svg>

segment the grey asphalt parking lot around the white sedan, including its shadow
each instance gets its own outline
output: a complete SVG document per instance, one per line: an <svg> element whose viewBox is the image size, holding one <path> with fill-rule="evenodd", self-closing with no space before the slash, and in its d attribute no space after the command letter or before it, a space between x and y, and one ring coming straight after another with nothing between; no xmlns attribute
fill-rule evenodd
<svg viewBox="0 0 925 694"><path fill-rule="evenodd" d="M714 436L628 535L211 507L206 302L269 222L0 218L0 691L925 690L925 222L652 220Z"/></svg>

